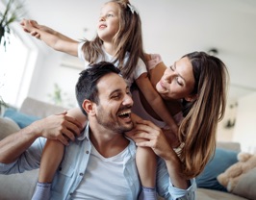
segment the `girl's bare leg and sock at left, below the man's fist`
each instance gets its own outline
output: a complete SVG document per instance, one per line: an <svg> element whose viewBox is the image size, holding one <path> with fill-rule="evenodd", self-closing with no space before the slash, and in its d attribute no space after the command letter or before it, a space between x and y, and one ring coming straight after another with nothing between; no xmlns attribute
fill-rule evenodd
<svg viewBox="0 0 256 200"><path fill-rule="evenodd" d="M47 139L40 160L38 185L32 200L50 199L51 183L64 156L64 144L58 140Z"/></svg>

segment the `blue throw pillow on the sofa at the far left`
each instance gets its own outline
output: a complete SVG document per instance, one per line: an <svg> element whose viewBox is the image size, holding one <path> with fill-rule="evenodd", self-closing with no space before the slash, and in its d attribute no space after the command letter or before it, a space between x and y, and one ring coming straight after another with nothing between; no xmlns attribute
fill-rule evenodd
<svg viewBox="0 0 256 200"><path fill-rule="evenodd" d="M28 115L13 109L7 109L4 112L4 117L13 119L13 121L16 122L21 129L39 119L38 116Z"/></svg>

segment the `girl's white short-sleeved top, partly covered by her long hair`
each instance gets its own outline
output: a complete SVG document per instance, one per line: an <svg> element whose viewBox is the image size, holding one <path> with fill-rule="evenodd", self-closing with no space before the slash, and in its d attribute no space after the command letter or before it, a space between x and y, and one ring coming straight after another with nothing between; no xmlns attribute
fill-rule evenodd
<svg viewBox="0 0 256 200"><path fill-rule="evenodd" d="M82 50L82 47L83 47L83 44L85 42L80 42L79 45L78 45L78 58L80 58L81 60L83 60L85 62L85 66L86 68L90 67L88 61L85 60L85 55L84 55L84 52ZM108 54L103 46L102 46L102 51L104 53L104 55L100 55L96 61L96 63L100 63L100 62L114 62L115 61L115 58ZM126 55L125 55L125 59L124 59L124 63L127 62L128 58L129 58L129 53L127 52ZM118 62L115 63L115 66L117 67L118 66ZM146 69L146 65L145 63L143 63L143 61L141 59L139 59L137 65L136 65L136 68L135 70L133 71L133 73L131 74L130 78L128 80L126 80L126 83L129 87L131 87L131 85L134 83L135 80L137 80L142 73L147 73L147 69Z"/></svg>

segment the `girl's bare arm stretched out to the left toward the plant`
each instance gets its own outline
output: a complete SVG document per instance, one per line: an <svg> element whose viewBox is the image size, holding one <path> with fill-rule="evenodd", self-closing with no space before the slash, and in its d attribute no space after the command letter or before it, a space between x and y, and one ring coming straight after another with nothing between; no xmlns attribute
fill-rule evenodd
<svg viewBox="0 0 256 200"><path fill-rule="evenodd" d="M20 23L23 30L30 33L33 37L44 41L54 50L64 52L72 56L78 56L78 41L68 38L63 34L43 25L39 25L37 21L23 19Z"/></svg>

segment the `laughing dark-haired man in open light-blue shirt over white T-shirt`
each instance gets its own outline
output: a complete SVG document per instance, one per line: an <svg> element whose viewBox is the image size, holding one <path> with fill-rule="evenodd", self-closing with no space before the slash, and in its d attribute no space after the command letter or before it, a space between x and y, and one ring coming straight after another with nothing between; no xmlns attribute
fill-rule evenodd
<svg viewBox="0 0 256 200"><path fill-rule="evenodd" d="M138 199L141 186L135 163L136 145L124 135L134 127L130 88L112 63L97 63L81 73L76 95L89 123L85 132L66 146L63 162L53 181L52 199ZM63 119L60 115L51 117ZM73 139L65 129L71 130L73 126L74 134L79 135L79 126L74 119L65 117L63 122L67 128L61 127L65 127L64 135ZM163 158L158 162L159 194L166 199L193 199L194 180L188 182L177 175L180 162L176 155L166 153L170 147L161 129L148 121L138 123L140 137L153 143L141 145L153 147ZM41 137L53 137L54 133L43 125L47 127L46 123L36 122L21 133L0 141L1 173L38 168L45 143ZM56 130L58 126L52 124L50 127ZM20 140L13 141L14 137ZM186 187L181 187L184 184Z"/></svg>

